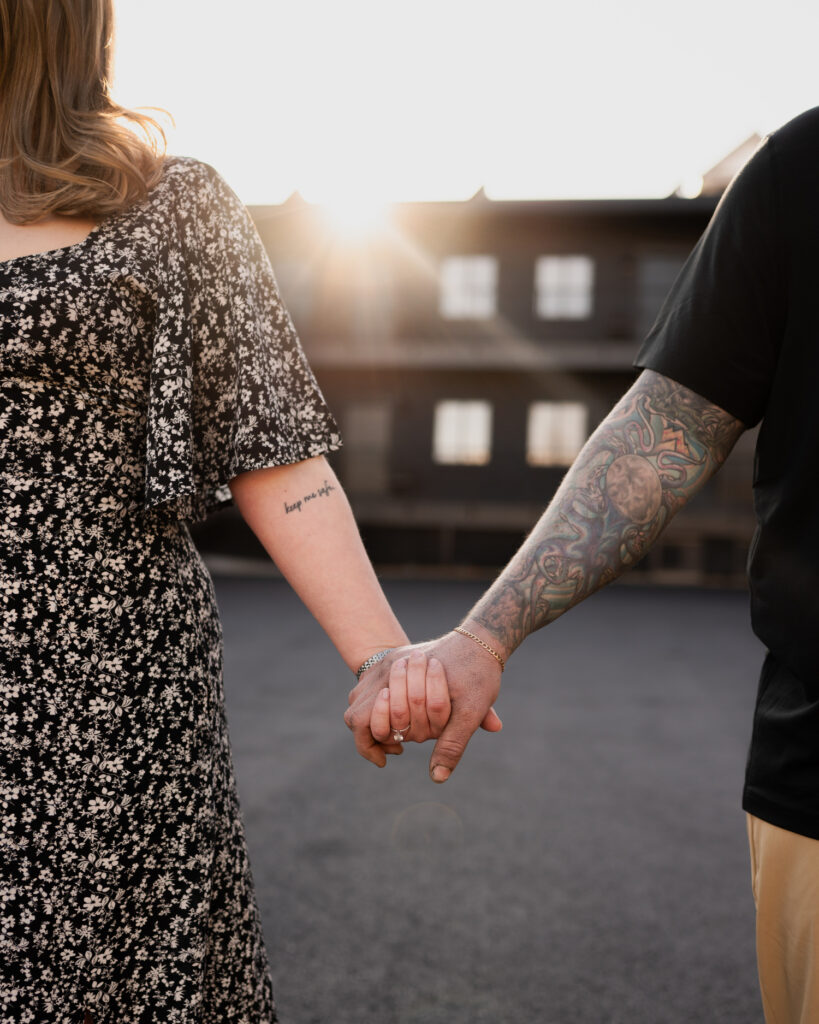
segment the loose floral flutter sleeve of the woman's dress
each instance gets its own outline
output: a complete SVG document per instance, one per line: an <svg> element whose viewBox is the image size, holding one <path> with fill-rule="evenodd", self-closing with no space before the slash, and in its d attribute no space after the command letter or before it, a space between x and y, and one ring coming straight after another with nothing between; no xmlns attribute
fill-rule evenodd
<svg viewBox="0 0 819 1024"><path fill-rule="evenodd" d="M219 174L180 162L158 255L145 505L199 520L239 473L341 445L261 239Z"/></svg>

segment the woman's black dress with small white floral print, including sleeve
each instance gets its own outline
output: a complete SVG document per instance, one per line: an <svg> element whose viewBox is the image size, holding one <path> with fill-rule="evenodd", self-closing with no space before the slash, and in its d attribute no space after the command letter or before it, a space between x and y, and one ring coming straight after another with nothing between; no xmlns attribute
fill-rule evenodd
<svg viewBox="0 0 819 1024"><path fill-rule="evenodd" d="M0 263L0 1020L275 1019L185 525L339 445L207 164Z"/></svg>

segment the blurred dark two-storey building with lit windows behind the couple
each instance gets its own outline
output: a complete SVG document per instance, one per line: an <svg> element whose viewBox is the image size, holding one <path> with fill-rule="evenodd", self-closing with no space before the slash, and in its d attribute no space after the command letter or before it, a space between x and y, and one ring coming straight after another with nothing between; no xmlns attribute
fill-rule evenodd
<svg viewBox="0 0 819 1024"><path fill-rule="evenodd" d="M339 420L334 466L377 564L506 562L634 380L716 203L479 193L402 204L357 232L298 196L251 208ZM672 523L642 579L741 584L752 440Z"/></svg>

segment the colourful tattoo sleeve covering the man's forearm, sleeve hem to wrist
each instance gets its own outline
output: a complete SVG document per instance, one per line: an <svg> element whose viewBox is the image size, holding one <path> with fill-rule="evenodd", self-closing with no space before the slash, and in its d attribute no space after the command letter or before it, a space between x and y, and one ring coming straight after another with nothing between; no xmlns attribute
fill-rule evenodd
<svg viewBox="0 0 819 1024"><path fill-rule="evenodd" d="M688 388L644 371L468 618L511 653L639 561L744 429Z"/></svg>

